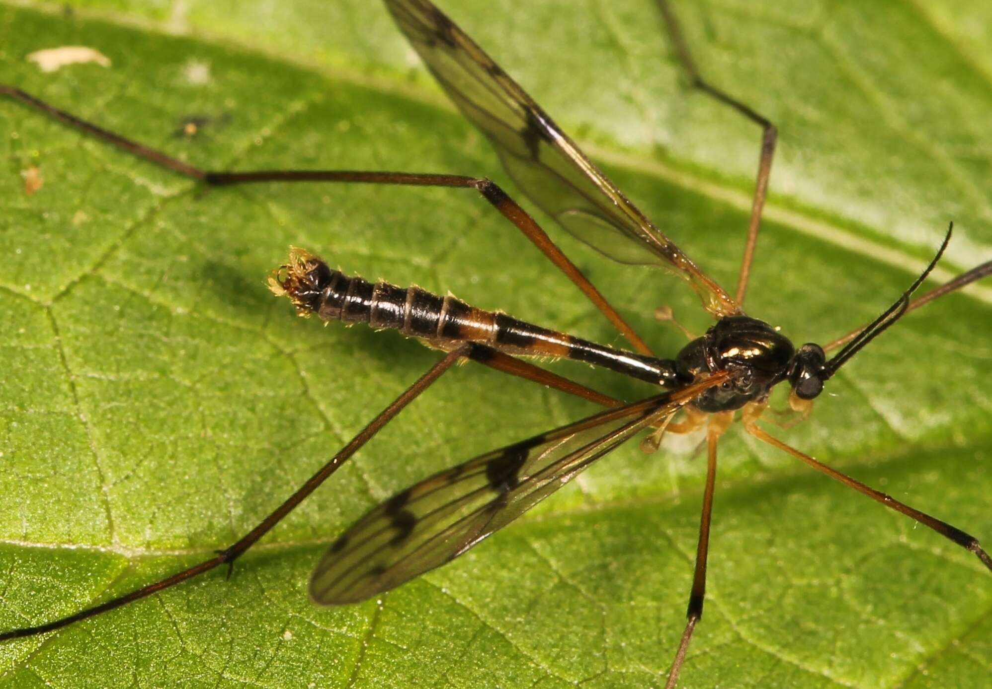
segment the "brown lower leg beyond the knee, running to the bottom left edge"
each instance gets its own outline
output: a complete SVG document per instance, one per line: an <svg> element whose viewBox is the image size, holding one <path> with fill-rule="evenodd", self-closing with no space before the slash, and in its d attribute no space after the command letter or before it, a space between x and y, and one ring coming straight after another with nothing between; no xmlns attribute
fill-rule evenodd
<svg viewBox="0 0 992 689"><path fill-rule="evenodd" d="M402 411L407 404L413 402L421 393L430 388L434 381L440 378L441 374L451 368L455 362L463 356L467 356L467 350L465 348L456 349L445 355L443 359L434 364L434 366L431 367L426 374L410 386L400 397L390 403L390 405L385 409L380 411L379 414L358 433L358 435L352 438L347 445L342 447L337 454L330 459L330 461L320 467L320 469L310 477L307 483L301 486L285 503L280 505L275 512L268 517L265 517L257 526L255 526L255 528L249 531L236 543L223 550L217 551L217 555L215 557L212 557L209 560L204 560L199 564L193 565L182 572L166 577L165 579L157 581L154 584L149 584L148 586L136 589L131 593L118 596L110 601L79 611L78 613L69 615L60 620L55 620L36 627L25 627L19 630L12 630L10 632L0 632L0 641L61 630L63 627L67 627L72 623L87 620L89 618L96 617L97 615L114 610L115 608L120 608L128 603L147 598L152 594L156 594L160 591L176 586L177 584L186 581L186 579L192 579L193 577L203 574L204 572L208 572L222 564L226 563L228 568L232 567L235 559L243 555L248 548L254 545L259 538L268 533L273 526L283 519L283 517L289 515L298 505L300 505L300 503L306 500L307 497L310 496L310 493L315 491L317 487L319 487L320 484L327 479L327 477L337 471L337 468L344 464L344 462L347 461L351 455L371 440L376 433L382 430L383 426L393 420L393 418L396 417L396 415L400 413L400 411ZM228 569L228 576L229 575L230 569Z"/></svg>

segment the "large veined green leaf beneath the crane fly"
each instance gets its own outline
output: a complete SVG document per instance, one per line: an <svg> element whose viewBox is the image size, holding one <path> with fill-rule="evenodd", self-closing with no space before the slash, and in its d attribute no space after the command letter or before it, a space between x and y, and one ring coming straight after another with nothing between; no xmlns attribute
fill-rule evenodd
<svg viewBox="0 0 992 689"><path fill-rule="evenodd" d="M505 180L378 3L328 5L3 6L2 80L213 169ZM759 132L685 86L651 2L444 9L687 254L734 285ZM676 9L703 73L781 133L750 313L797 342L828 341L890 303L951 219L943 275L989 258L992 62L971 31L990 25L987 9ZM112 64L43 73L26 59L59 46ZM189 118L205 118L195 136L181 131ZM622 344L471 191L204 189L11 101L0 103L0 159L3 630L210 557L436 360L395 333L294 317L264 285L291 244L351 273L450 289ZM26 175L43 185L28 193ZM654 320L658 305L706 327L678 281L612 264L540 219L657 352L684 342ZM992 541L990 302L984 287L907 317L830 382L810 419L778 435ZM651 392L553 367L627 399ZM214 571L3 643L0 686L663 684L691 579L697 438L653 456L622 448L519 524L379 601L307 600L322 550L381 500L593 410L461 367L229 581ZM739 427L720 453L706 614L680 686L987 684L992 577L972 555Z"/></svg>

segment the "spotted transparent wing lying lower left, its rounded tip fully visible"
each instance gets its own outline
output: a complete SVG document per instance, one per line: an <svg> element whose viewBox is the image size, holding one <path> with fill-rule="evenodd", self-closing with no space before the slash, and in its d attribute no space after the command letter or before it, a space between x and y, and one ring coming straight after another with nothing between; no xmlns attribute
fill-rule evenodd
<svg viewBox="0 0 992 689"><path fill-rule="evenodd" d="M310 577L322 605L363 601L457 557L727 374L601 411L489 452L397 494L330 546Z"/></svg>

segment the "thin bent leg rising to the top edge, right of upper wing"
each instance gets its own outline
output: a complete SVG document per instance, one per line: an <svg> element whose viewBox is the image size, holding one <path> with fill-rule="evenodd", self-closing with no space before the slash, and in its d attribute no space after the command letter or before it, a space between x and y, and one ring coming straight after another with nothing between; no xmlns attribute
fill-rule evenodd
<svg viewBox="0 0 992 689"><path fill-rule="evenodd" d="M724 105L727 105L744 117L748 118L762 129L761 135L761 158L758 160L758 176L755 181L754 198L751 201L751 220L748 222L747 243L744 245L744 259L741 261L741 272L737 279L737 294L735 296L738 305L743 305L744 296L747 293L748 278L751 276L751 264L754 262L754 251L758 245L758 230L761 229L761 213L765 208L765 197L768 194L768 178L772 172L772 158L775 156L775 142L779 132L772 124L771 120L759 114L749 106L736 98L732 98L720 89L712 86L699 75L699 70L695 66L688 51L688 46L682 36L682 29L675 13L669 6L669 0L658 0L658 6L665 18L665 26L668 28L672 45L676 49L676 54L682 62L682 67L688 74L692 86L698 88L703 93L707 93Z"/></svg>

